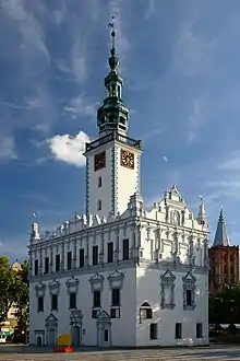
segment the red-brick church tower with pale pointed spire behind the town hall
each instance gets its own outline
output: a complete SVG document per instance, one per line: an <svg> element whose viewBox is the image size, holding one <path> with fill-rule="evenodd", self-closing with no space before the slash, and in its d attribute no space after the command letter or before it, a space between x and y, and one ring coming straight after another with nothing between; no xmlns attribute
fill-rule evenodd
<svg viewBox="0 0 240 361"><path fill-rule="evenodd" d="M224 210L217 223L213 246L209 248L209 294L218 293L225 286L239 281L239 246L231 246Z"/></svg>

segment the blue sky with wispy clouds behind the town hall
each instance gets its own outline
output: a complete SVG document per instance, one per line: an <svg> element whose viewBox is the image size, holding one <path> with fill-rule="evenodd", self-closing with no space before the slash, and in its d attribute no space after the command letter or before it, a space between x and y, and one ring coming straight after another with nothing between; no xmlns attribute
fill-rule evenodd
<svg viewBox="0 0 240 361"><path fill-rule="evenodd" d="M145 201L176 183L196 211L203 194L212 241L224 205L239 243L239 0L0 0L0 252L12 259L33 212L43 231L84 212L81 152L97 137L112 14Z"/></svg>

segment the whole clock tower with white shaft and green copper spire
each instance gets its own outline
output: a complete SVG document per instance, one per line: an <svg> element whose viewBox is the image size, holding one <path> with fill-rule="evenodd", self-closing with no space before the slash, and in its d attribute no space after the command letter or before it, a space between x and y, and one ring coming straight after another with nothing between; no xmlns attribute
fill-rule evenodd
<svg viewBox="0 0 240 361"><path fill-rule="evenodd" d="M111 27L110 71L106 97L97 112L99 138L86 143L86 214L108 217L127 210L130 196L140 193L141 141L128 137L129 109L122 101L123 80Z"/></svg>

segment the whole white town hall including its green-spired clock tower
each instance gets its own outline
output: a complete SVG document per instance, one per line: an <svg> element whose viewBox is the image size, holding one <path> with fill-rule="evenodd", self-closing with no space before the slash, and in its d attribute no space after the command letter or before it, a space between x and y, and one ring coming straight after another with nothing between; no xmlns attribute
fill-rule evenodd
<svg viewBox="0 0 240 361"><path fill-rule="evenodd" d="M32 224L29 341L74 347L208 343L208 231L203 199L194 217L176 185L147 209L140 140L118 73L115 31L97 113L86 143L86 209L57 231Z"/></svg>

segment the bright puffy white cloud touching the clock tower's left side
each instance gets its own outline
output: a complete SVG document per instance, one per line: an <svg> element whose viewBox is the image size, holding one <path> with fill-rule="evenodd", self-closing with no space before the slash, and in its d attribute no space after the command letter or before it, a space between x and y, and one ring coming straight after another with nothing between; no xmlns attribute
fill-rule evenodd
<svg viewBox="0 0 240 361"><path fill-rule="evenodd" d="M57 161L75 166L84 166L85 158L83 153L85 143L89 141L89 137L84 131L80 131L75 137L69 135L55 136L48 139L47 143Z"/></svg>

